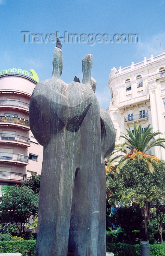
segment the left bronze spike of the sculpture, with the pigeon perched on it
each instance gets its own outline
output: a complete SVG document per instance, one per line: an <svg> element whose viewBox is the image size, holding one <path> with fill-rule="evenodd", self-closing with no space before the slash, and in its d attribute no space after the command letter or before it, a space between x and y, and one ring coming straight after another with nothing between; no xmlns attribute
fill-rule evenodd
<svg viewBox="0 0 165 256"><path fill-rule="evenodd" d="M60 77L62 74L62 50L55 47L53 54L53 74L52 76Z"/></svg>

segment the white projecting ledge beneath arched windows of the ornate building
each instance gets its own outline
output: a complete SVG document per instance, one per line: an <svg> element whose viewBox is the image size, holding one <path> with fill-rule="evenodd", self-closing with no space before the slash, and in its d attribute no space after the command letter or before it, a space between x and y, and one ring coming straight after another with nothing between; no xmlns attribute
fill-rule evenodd
<svg viewBox="0 0 165 256"><path fill-rule="evenodd" d="M122 101L118 104L118 108L129 108L131 105L141 104L146 101L149 101L149 94Z"/></svg>

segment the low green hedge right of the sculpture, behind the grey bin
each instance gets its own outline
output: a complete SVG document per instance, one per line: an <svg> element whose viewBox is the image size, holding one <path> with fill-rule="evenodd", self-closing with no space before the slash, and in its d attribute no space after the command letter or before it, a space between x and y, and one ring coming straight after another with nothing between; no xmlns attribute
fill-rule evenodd
<svg viewBox="0 0 165 256"><path fill-rule="evenodd" d="M165 255L165 244L153 244L150 246L150 256ZM139 244L108 243L107 252L113 252L115 256L141 256Z"/></svg>

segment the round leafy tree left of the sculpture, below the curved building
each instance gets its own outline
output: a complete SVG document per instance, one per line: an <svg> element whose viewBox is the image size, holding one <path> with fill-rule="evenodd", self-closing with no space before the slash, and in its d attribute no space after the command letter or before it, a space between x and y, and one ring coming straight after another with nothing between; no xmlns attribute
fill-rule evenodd
<svg viewBox="0 0 165 256"><path fill-rule="evenodd" d="M28 187L13 186L6 190L0 201L0 220L15 222L21 235L25 223L38 213L38 194Z"/></svg>

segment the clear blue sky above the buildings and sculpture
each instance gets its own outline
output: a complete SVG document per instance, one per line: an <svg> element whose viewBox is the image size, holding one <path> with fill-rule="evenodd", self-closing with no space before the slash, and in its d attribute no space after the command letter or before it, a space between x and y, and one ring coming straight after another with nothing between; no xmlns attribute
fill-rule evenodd
<svg viewBox="0 0 165 256"><path fill-rule="evenodd" d="M0 0L0 71L7 68L35 69L39 79L52 75L52 54L55 44L24 43L21 31L52 34L64 31L77 34L139 34L140 43L62 42L63 73L66 83L75 75L82 79L82 59L93 54L92 76L97 81L96 94L106 109L110 103L108 88L111 68L126 67L151 54L165 50L164 0Z"/></svg>

